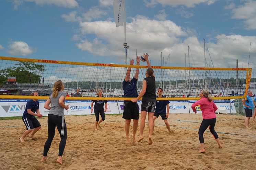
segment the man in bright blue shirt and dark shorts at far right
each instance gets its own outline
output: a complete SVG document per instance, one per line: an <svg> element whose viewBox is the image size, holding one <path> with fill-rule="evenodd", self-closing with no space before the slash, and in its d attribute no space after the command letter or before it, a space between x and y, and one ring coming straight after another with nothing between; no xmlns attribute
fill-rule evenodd
<svg viewBox="0 0 256 170"><path fill-rule="evenodd" d="M253 92L249 90L246 95L246 100L242 99L242 103L244 104L244 110L246 114L246 118L245 118L246 129L251 129L251 127L249 127L249 121L250 121L250 118L252 117L253 106L254 106L253 99L251 98L252 96L253 96Z"/></svg>

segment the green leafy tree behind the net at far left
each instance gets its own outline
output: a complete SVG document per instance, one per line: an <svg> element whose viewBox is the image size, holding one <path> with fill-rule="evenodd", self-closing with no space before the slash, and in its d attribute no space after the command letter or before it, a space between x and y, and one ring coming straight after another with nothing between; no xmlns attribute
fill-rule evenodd
<svg viewBox="0 0 256 170"><path fill-rule="evenodd" d="M17 62L11 68L0 70L0 84L5 84L8 77L16 77L19 83L38 83L45 70L44 65L33 62Z"/></svg>

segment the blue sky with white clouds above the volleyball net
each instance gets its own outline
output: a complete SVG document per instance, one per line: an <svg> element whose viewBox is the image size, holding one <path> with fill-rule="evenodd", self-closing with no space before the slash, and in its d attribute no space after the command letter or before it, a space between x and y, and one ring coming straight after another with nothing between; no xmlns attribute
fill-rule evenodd
<svg viewBox="0 0 256 170"><path fill-rule="evenodd" d="M188 66L189 46L190 67L204 67L205 39L208 66L238 59L256 76L256 1L126 0L125 9L128 61L137 50L161 65L162 52L171 66L185 66L186 54ZM125 64L113 0L1 0L0 23L0 56Z"/></svg>

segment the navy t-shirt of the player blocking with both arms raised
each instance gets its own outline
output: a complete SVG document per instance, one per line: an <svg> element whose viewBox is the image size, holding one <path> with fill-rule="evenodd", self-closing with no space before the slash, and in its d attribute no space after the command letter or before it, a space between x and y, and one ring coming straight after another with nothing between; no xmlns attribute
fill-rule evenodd
<svg viewBox="0 0 256 170"><path fill-rule="evenodd" d="M131 82L123 81L124 97L138 97L137 93L137 79L133 77Z"/></svg>

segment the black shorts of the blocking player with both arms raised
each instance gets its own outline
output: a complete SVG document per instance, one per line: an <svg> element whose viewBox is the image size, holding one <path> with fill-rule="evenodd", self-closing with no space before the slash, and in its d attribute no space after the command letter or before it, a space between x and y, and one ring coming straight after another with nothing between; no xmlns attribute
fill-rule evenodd
<svg viewBox="0 0 256 170"><path fill-rule="evenodd" d="M124 113L123 119L131 120L139 120L139 106L137 102L124 101Z"/></svg>

